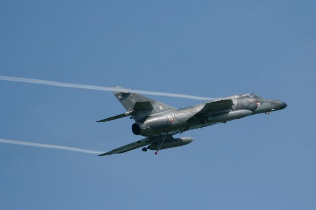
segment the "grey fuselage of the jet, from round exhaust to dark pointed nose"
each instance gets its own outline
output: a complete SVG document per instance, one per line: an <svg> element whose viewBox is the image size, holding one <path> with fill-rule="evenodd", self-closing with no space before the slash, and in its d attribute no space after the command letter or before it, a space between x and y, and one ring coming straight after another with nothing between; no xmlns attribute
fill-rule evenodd
<svg viewBox="0 0 316 210"><path fill-rule="evenodd" d="M225 109L203 112L201 115L198 115L198 113L209 102L150 115L136 121L132 125L132 131L135 135L146 137L167 132L169 134L183 133L253 114L280 110L287 106L283 102L263 99L253 93L230 96L221 100L227 99L232 100L234 105Z"/></svg>

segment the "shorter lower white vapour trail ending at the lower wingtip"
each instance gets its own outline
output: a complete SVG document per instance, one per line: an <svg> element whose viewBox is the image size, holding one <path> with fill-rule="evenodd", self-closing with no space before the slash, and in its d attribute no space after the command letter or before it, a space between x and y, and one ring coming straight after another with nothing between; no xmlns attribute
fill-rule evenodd
<svg viewBox="0 0 316 210"><path fill-rule="evenodd" d="M33 143L33 142L19 141L19 140L0 139L0 142L1 143L12 143L12 144L26 145L26 146L45 147L45 148L51 148L51 149L64 149L64 150L83 152L83 153L92 153L92 154L104 153L104 152L100 152L100 151L80 149L80 148L76 148L76 147L60 146L60 145L44 144L44 143Z"/></svg>

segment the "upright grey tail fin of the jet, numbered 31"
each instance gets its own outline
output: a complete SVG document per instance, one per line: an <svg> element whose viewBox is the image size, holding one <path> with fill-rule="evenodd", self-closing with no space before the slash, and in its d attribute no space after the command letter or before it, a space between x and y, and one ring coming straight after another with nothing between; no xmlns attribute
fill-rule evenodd
<svg viewBox="0 0 316 210"><path fill-rule="evenodd" d="M144 111L151 114L175 109L170 105L163 104L137 93L119 91L121 87L116 86L118 91L112 91L118 101L127 111Z"/></svg>

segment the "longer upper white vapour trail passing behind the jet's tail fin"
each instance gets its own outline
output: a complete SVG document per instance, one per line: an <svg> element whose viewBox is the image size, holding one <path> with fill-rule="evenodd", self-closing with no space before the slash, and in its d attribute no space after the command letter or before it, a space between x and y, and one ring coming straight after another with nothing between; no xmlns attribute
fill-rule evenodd
<svg viewBox="0 0 316 210"><path fill-rule="evenodd" d="M69 88L81 88L81 89L89 89L89 90L118 91L118 89L115 87L82 85L82 84L55 82L55 81L49 81L49 80L30 79L30 78L14 77L14 76L2 76L2 75L0 75L0 80L14 81L14 82L28 82L28 83L36 83L36 84L43 84L43 85L53 85L53 86L69 87ZM217 99L217 98L199 97L199 96L176 94L176 93L153 92L153 91L146 91L146 90L132 90L132 89L127 89L127 88L120 88L119 90L125 91L125 92L131 92L131 93L156 95L156 96L168 96L168 97L177 97L177 98L186 98L186 99L196 99L196 100L204 100L204 101L211 101L211 100Z"/></svg>

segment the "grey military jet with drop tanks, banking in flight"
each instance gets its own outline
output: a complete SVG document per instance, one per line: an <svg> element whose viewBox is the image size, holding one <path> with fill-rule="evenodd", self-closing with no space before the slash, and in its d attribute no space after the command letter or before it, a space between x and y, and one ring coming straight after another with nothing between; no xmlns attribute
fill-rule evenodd
<svg viewBox="0 0 316 210"><path fill-rule="evenodd" d="M97 122L130 116L135 120L132 125L133 134L146 138L98 156L123 153L139 147L143 147L142 150L145 152L147 149L156 150L157 155L160 149L183 146L193 141L190 137L173 138L175 134L226 123L253 114L270 114L271 111L287 106L278 100L267 100L254 93L247 93L176 109L137 93L119 91L121 87L116 88L118 91L112 93L126 112Z"/></svg>

